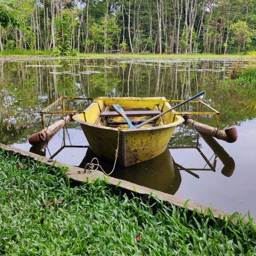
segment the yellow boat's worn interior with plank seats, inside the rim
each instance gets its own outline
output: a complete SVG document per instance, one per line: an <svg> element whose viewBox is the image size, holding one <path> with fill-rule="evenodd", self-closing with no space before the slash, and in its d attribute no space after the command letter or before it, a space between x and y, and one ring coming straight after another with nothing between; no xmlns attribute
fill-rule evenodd
<svg viewBox="0 0 256 256"><path fill-rule="evenodd" d="M116 112L113 104L119 104L124 109L126 116L128 116L132 124L137 125L171 108L170 104L164 101L166 101L164 97L150 99L104 98L94 101L86 108L84 113L78 115L78 118L99 126L129 129L126 120ZM144 125L143 128L171 124L177 120L178 116L170 111L149 124Z"/></svg>

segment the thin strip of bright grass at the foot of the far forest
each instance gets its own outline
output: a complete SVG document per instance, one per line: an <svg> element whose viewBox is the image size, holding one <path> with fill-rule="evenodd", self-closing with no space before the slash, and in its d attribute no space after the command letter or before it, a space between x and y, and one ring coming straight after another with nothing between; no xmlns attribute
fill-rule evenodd
<svg viewBox="0 0 256 256"><path fill-rule="evenodd" d="M8 51L0 52L0 56L53 56L52 50L19 50L13 49ZM78 53L78 57L90 57L90 58L190 58L190 59L240 59L240 58L250 58L250 55L242 54L104 54L104 53ZM64 56L64 58L70 58L70 56Z"/></svg>

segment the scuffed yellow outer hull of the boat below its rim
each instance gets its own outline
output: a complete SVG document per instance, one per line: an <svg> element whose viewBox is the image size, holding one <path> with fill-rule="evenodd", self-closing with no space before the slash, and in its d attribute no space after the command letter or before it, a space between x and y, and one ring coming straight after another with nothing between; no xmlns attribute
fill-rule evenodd
<svg viewBox="0 0 256 256"><path fill-rule="evenodd" d="M90 148L95 154L115 160L118 130L81 124ZM160 155L166 149L175 127L130 131L120 130L117 163L129 166Z"/></svg>

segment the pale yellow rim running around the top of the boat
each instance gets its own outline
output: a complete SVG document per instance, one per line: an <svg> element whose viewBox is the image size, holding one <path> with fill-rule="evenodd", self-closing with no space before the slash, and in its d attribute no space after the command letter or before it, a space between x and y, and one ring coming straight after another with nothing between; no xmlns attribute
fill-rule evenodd
<svg viewBox="0 0 256 256"><path fill-rule="evenodd" d="M99 98L101 98L101 97L99 97ZM104 100L104 99L106 99L106 97L102 97L102 100ZM115 97L115 98L113 98L113 97L109 97L108 99L113 99L113 101L114 101L114 99L118 99L118 100L120 100L120 99L132 99L132 100L135 100L135 101L138 101L138 100L142 100L143 101L143 98L140 98L140 97ZM151 99L151 100L154 100L154 101L157 101L157 100L159 100L159 101L161 101L161 100L166 100L166 98L165 97L145 97L145 99ZM118 131L118 128L112 128L112 127L108 127L108 126L102 126L102 125L97 125L97 124L92 124L92 123L89 123L89 122L86 122L86 121L83 121L83 120L81 120L80 118L78 118L78 116L81 116L81 115L84 115L84 113L86 112L86 110L88 109L90 109L90 106L92 105L92 104L95 104L96 102L98 102L98 100L94 100L85 110L84 110L84 112L82 112L82 113L78 113L78 114L76 114L76 115L74 115L74 116L72 116L72 119L73 120L75 120L76 122L78 122L78 123L80 123L80 124L85 124L85 125L88 125L88 126L92 126L92 127L95 127L95 128L101 128L101 129L107 129L107 130L114 130L114 131ZM167 104L169 104L169 102L165 102L165 103L167 103ZM169 104L170 105L170 104ZM182 117L182 116L180 116L180 115L177 115L177 114L175 114L175 112L174 112L174 110L171 110L171 112L174 114L174 116L177 116L178 117L178 120L177 121L175 121L175 122L172 122L172 123L170 123L170 124L164 124L164 125L161 125L161 126L155 126L155 127L152 127L152 128L136 128L136 129L121 129L122 130L122 132L135 132L135 131L142 131L142 130L159 130L159 129L164 129L164 128L171 128L171 127L175 127L175 126L178 126L179 124L182 124L185 120L184 120L184 118Z"/></svg>

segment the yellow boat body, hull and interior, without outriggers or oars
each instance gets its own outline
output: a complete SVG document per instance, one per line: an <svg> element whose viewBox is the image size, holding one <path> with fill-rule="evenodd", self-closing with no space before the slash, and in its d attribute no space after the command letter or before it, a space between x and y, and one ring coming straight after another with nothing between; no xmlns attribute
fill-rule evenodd
<svg viewBox="0 0 256 256"><path fill-rule="evenodd" d="M165 97L103 98L94 100L84 112L72 118L80 123L92 151L117 164L129 166L160 155L166 149L182 116L173 111L164 114L142 128L130 129L113 104L119 104L136 125L171 108Z"/></svg>

